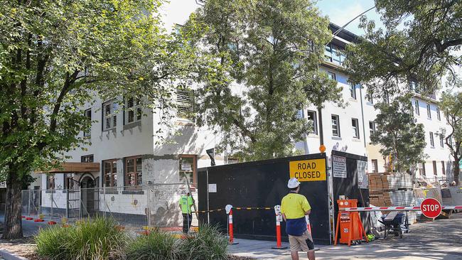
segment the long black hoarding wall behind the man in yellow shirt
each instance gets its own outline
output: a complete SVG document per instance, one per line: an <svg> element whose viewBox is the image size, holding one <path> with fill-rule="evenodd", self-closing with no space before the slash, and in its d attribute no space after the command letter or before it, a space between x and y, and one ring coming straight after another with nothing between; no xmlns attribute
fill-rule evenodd
<svg viewBox="0 0 462 260"><path fill-rule="evenodd" d="M274 206L280 205L282 197L289 192L289 164L315 160L323 162L323 178L303 181L300 194L307 197L312 207L313 239L317 243L329 244L328 176L324 153L199 169L200 221L219 224L226 231L227 215L223 209L225 205L232 205L235 237L276 239ZM206 212L208 210L214 211ZM281 233L282 239L287 241L285 222L281 223Z"/></svg>

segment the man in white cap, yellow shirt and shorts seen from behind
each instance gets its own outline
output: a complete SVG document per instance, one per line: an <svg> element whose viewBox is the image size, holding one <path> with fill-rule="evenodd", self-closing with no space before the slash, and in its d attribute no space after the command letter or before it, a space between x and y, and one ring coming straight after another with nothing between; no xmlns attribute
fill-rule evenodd
<svg viewBox="0 0 462 260"><path fill-rule="evenodd" d="M311 206L306 197L299 194L300 182L291 178L287 183L289 194L281 201L281 214L286 221L286 233L289 235L292 260L299 260L299 251L306 251L309 260L315 260L314 243L305 215L311 213Z"/></svg>

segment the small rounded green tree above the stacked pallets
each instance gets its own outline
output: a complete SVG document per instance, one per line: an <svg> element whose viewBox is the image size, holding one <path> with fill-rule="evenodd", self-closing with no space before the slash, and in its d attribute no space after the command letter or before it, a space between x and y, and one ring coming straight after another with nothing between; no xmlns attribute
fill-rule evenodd
<svg viewBox="0 0 462 260"><path fill-rule="evenodd" d="M397 97L390 104L375 104L379 110L375 122L377 131L372 144L380 144L383 156L392 155L398 171L410 170L424 160L425 131L423 124L414 123L413 107L409 96Z"/></svg>

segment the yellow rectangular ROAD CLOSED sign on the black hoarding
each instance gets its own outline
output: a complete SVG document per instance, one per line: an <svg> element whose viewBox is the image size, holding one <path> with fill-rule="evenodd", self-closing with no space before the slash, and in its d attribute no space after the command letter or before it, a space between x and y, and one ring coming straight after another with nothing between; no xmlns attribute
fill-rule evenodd
<svg viewBox="0 0 462 260"><path fill-rule="evenodd" d="M326 159L290 161L289 171L299 181L326 180Z"/></svg>

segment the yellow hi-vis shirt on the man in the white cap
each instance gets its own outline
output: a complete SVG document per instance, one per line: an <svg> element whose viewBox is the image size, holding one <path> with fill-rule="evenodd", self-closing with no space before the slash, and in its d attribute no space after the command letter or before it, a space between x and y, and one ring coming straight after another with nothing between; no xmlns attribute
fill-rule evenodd
<svg viewBox="0 0 462 260"><path fill-rule="evenodd" d="M282 198L281 213L284 213L289 220L305 217L305 212L308 210L311 210L310 203L301 194L289 193Z"/></svg>

